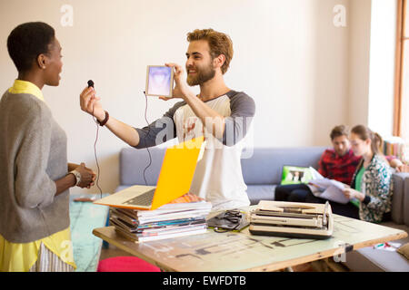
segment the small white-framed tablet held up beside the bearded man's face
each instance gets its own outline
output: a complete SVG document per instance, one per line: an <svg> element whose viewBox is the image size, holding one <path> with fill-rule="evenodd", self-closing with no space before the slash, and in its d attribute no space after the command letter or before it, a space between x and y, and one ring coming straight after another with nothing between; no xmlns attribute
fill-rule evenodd
<svg viewBox="0 0 409 290"><path fill-rule="evenodd" d="M148 65L146 69L146 95L172 98L174 84L173 67Z"/></svg>

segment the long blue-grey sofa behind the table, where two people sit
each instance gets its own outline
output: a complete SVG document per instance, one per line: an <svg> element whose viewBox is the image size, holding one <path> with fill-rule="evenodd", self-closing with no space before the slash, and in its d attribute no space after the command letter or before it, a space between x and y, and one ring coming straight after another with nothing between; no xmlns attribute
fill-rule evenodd
<svg viewBox="0 0 409 290"><path fill-rule="evenodd" d="M295 148L254 148L247 150L242 162L247 195L252 205L259 200L274 200L274 188L281 181L284 165L312 166L318 169L318 161L326 147ZM164 148L150 148L152 164L145 171L148 185L155 185L159 176ZM144 169L149 163L147 150L124 148L120 152L120 185L116 191L135 184L145 184ZM397 227L409 233L409 173L394 173L394 196L392 202L392 221L384 226ZM406 237L396 241L409 242ZM365 247L346 255L345 266L353 271L409 271L409 261L396 252L376 250Z"/></svg>

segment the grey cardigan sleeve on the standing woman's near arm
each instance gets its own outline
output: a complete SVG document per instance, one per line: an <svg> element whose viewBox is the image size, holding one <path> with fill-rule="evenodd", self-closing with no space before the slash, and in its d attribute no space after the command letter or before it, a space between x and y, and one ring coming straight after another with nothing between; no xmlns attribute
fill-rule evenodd
<svg viewBox="0 0 409 290"><path fill-rule="evenodd" d="M51 143L51 112L38 104L25 118L25 132L15 156L15 199L22 208L44 208L55 197L46 167Z"/></svg>

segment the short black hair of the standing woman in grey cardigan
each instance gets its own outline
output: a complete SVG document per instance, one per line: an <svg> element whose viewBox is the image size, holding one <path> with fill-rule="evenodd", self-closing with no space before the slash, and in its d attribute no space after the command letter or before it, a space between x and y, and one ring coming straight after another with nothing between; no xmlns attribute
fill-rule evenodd
<svg viewBox="0 0 409 290"><path fill-rule="evenodd" d="M20 24L7 38L7 50L17 71L27 72L41 53L49 52L55 39L55 30L43 22Z"/></svg>

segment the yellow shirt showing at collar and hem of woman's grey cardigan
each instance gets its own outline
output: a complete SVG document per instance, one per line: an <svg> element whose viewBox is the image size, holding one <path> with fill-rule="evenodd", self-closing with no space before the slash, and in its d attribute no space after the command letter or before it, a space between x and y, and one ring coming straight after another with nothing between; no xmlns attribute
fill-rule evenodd
<svg viewBox="0 0 409 290"><path fill-rule="evenodd" d="M15 80L10 93L30 93L44 102L43 92L32 82ZM28 272L35 265L41 243L66 264L74 266L70 227L49 237L25 244L7 241L0 235L0 272Z"/></svg>

